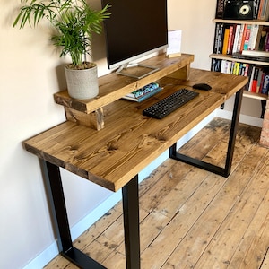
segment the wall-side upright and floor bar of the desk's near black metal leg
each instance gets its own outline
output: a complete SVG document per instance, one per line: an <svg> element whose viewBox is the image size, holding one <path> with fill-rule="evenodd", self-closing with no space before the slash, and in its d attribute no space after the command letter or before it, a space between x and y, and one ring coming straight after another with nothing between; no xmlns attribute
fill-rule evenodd
<svg viewBox="0 0 269 269"><path fill-rule="evenodd" d="M60 169L48 161L40 160L40 162L48 191L48 199L54 219L53 221L55 222L56 238L61 255L65 256L65 258L80 268L105 268L103 265L91 259L91 257L83 254L79 249L73 247Z"/></svg>

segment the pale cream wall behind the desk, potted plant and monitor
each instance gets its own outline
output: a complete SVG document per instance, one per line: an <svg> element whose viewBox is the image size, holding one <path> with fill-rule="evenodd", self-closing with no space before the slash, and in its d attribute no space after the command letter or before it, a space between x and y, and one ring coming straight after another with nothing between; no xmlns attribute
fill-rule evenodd
<svg viewBox="0 0 269 269"><path fill-rule="evenodd" d="M39 161L22 149L22 141L65 120L53 93L65 89L63 65L68 59L59 59L49 45L48 30L12 28L18 4L20 0L0 0L0 268L36 269L57 249ZM194 67L210 69L215 1L168 4L169 30L183 30L182 51L195 54ZM106 74L104 38L96 42L94 60L99 74ZM68 172L63 177L70 224L78 227L111 193ZM104 212L109 205L104 204ZM81 225L74 237L82 230Z"/></svg>

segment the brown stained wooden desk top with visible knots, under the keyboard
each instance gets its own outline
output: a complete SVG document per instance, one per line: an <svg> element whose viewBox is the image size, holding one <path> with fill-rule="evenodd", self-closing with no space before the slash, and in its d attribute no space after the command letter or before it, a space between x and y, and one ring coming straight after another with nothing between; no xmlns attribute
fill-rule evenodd
<svg viewBox="0 0 269 269"><path fill-rule="evenodd" d="M179 88L191 90L197 82L208 83L213 89L198 91L198 97L161 120L143 116L144 108ZM191 69L188 81L165 77L159 83L163 91L149 100L117 100L106 106L106 126L100 131L66 121L23 142L24 148L40 159L117 191L239 91L247 78Z"/></svg>

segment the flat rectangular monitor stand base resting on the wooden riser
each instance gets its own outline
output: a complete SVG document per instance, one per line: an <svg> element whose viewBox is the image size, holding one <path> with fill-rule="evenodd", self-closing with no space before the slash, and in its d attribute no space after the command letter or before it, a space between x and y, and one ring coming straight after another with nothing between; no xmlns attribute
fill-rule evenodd
<svg viewBox="0 0 269 269"><path fill-rule="evenodd" d="M141 65L139 63L136 64L125 64L121 65L117 71L116 74L122 74L129 77L134 77L136 79L142 79L143 77L152 74L159 70L158 67L155 66L149 66L149 65Z"/></svg>

